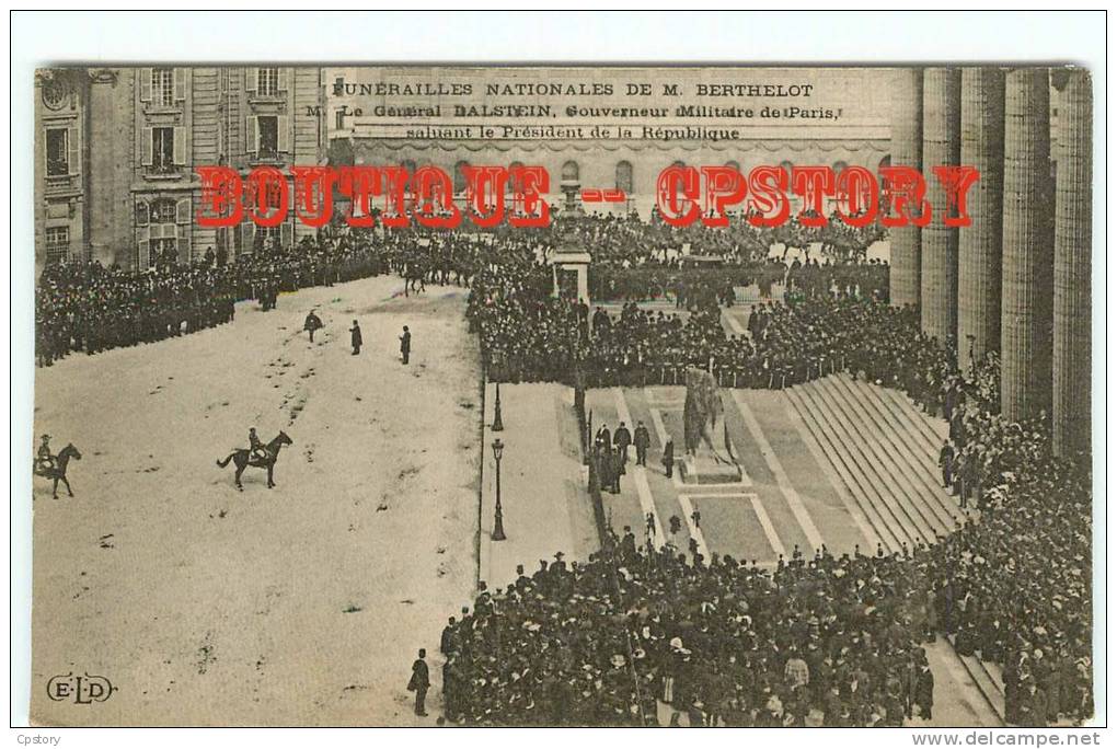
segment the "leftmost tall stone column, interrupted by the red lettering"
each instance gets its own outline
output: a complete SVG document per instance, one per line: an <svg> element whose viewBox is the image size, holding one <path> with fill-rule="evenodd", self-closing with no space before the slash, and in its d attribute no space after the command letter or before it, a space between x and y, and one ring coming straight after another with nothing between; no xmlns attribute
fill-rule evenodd
<svg viewBox="0 0 1117 749"><path fill-rule="evenodd" d="M895 74L891 100L891 163L923 169L923 70ZM898 307L919 304L919 229L889 229L888 287Z"/></svg>

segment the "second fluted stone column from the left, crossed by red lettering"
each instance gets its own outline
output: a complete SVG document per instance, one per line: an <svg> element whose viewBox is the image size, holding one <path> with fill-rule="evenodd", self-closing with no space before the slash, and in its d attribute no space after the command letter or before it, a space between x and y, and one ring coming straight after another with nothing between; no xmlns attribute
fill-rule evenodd
<svg viewBox="0 0 1117 749"><path fill-rule="evenodd" d="M919 249L919 319L942 343L958 325L958 230L944 225L946 194L935 166L955 165L962 148L962 70L927 68L923 74L923 167L927 199L936 211L924 227Z"/></svg>

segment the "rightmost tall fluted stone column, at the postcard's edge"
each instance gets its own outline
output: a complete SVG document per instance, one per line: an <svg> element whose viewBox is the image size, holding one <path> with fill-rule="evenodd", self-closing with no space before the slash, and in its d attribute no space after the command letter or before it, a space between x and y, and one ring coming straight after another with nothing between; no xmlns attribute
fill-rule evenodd
<svg viewBox="0 0 1117 749"><path fill-rule="evenodd" d="M1054 184L1054 450L1090 449L1090 74L1058 71L1061 88ZM1066 81L1061 78L1066 77Z"/></svg>

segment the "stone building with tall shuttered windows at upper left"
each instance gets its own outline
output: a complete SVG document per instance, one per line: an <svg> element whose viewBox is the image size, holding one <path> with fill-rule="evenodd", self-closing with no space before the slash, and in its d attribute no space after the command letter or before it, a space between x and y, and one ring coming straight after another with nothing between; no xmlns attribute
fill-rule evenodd
<svg viewBox="0 0 1117 749"><path fill-rule="evenodd" d="M308 233L197 225L200 165L287 172L325 153L318 68L40 70L36 96L36 267L87 258L144 269L212 248L229 257ZM293 192L293 191L292 191Z"/></svg>

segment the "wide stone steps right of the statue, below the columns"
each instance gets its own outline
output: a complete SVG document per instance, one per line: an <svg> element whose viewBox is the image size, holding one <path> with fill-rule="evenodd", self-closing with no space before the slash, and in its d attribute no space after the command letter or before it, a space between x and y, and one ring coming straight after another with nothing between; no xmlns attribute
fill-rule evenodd
<svg viewBox="0 0 1117 749"><path fill-rule="evenodd" d="M886 553L936 542L964 521L967 511L943 487L938 468L945 421L927 415L899 391L847 374L783 392L844 484L839 490L856 502ZM941 657L956 659L944 668L953 671L961 664L1003 720L1001 669L948 650L935 649Z"/></svg>

